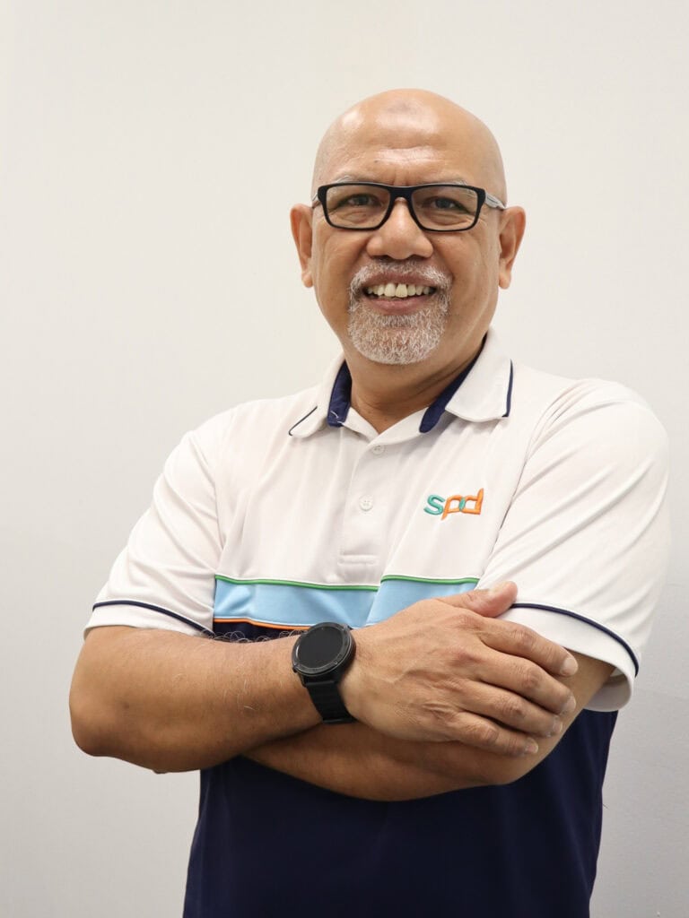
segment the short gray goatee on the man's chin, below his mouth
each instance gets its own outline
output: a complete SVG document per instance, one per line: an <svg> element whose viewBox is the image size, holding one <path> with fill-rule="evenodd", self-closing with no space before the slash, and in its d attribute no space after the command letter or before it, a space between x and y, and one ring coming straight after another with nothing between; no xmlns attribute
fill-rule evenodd
<svg viewBox="0 0 689 918"><path fill-rule="evenodd" d="M428 306L409 315L386 315L371 308L361 283L353 283L347 331L356 351L377 364L418 364L433 353L445 334L450 297L439 278L429 278L429 286L437 289Z"/></svg>

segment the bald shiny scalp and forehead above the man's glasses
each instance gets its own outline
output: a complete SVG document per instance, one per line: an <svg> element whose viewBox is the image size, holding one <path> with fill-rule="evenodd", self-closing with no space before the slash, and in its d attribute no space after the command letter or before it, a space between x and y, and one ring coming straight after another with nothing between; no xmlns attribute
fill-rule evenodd
<svg viewBox="0 0 689 918"><path fill-rule="evenodd" d="M464 181L486 188L505 203L503 159L491 131L465 108L422 89L393 89L372 95L337 118L321 141L313 186L345 179L365 180L360 162L371 168L410 165L441 151L447 174L436 181ZM453 174L453 170L461 174Z"/></svg>

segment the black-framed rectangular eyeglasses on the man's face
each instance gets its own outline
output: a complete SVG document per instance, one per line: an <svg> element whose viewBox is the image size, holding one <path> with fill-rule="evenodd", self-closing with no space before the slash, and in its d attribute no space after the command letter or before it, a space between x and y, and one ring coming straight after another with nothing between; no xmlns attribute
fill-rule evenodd
<svg viewBox="0 0 689 918"><path fill-rule="evenodd" d="M483 188L472 185L378 185L342 182L321 185L311 207L321 204L323 216L335 229L378 229L403 197L412 219L431 232L461 232L476 226L480 208L505 206Z"/></svg>

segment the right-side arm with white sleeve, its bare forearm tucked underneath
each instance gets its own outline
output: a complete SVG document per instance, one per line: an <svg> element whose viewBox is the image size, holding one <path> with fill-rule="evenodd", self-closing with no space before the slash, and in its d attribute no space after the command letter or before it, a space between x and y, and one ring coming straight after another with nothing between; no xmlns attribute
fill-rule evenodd
<svg viewBox="0 0 689 918"><path fill-rule="evenodd" d="M667 551L662 431L647 409L620 402L617 391L603 404L595 394L591 404L587 399L567 411L559 406L540 431L486 574L513 577L520 599L534 603L522 601L507 618L525 618L577 652L579 671L563 680L577 707L562 718L564 729L604 687L613 661L627 679L608 683L602 703L618 707L626 700L634 666L624 641L638 652L648 637ZM554 597L556 608L548 605ZM611 643L611 634L623 641ZM250 756L341 793L404 799L520 778L561 735L539 741L536 756L506 758L451 742L407 745L361 727L321 727Z"/></svg>

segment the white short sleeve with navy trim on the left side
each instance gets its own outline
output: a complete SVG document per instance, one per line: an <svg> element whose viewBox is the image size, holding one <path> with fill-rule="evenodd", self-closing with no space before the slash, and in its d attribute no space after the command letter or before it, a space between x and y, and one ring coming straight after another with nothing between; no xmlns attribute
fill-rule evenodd
<svg viewBox="0 0 689 918"><path fill-rule="evenodd" d="M212 438L202 428L187 433L170 455L87 628L212 633L220 533L209 447Z"/></svg>

